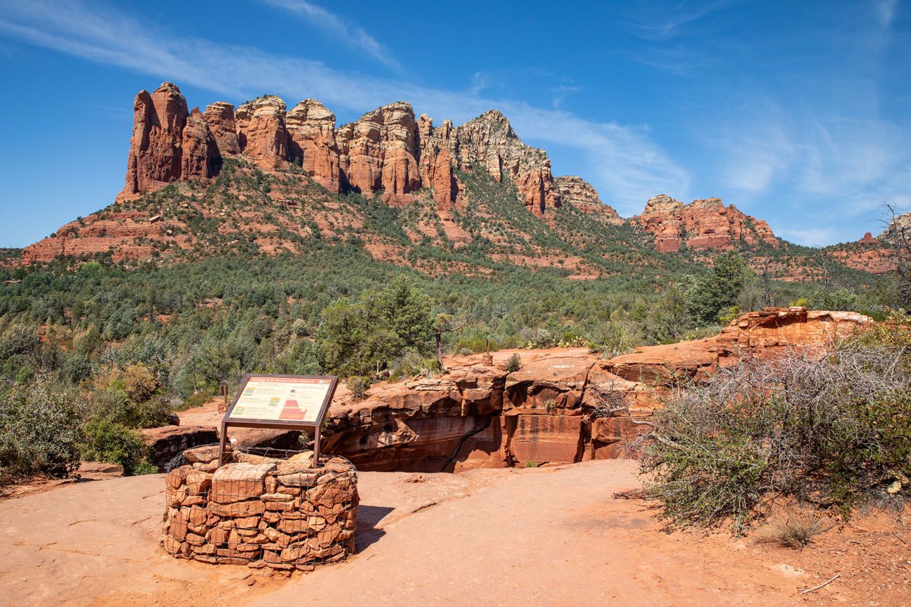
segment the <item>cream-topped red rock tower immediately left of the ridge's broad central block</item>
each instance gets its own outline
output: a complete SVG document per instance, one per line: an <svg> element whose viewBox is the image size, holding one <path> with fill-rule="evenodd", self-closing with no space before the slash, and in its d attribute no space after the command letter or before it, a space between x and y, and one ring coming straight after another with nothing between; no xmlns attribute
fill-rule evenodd
<svg viewBox="0 0 911 607"><path fill-rule="evenodd" d="M315 99L304 99L285 116L288 150L303 170L330 192L339 192L339 150L335 115Z"/></svg>

